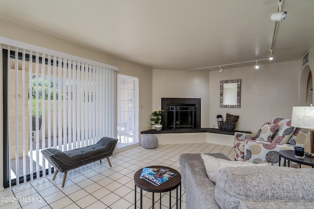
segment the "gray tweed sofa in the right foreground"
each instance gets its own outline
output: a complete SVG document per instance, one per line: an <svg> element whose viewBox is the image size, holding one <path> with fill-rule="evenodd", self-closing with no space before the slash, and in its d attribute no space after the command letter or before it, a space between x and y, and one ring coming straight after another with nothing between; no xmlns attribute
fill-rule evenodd
<svg viewBox="0 0 314 209"><path fill-rule="evenodd" d="M223 154L209 154L228 160ZM181 154L186 209L314 209L314 169L247 166L220 169L209 180L200 154Z"/></svg>

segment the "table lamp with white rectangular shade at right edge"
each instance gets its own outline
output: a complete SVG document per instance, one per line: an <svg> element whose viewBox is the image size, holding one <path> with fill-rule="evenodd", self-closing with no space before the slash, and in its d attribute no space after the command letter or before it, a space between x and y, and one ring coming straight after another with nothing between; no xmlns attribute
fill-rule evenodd
<svg viewBox="0 0 314 209"><path fill-rule="evenodd" d="M291 126L311 130L311 152L305 154L314 158L314 107L292 107Z"/></svg>

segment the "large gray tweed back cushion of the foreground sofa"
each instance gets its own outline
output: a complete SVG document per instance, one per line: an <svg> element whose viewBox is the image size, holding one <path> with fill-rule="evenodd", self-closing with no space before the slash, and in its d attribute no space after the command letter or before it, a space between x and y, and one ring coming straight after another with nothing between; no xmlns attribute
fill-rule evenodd
<svg viewBox="0 0 314 209"><path fill-rule="evenodd" d="M271 175L276 178L265 178ZM239 208L242 201L314 200L314 169L247 166L220 169L215 200L220 208Z"/></svg>

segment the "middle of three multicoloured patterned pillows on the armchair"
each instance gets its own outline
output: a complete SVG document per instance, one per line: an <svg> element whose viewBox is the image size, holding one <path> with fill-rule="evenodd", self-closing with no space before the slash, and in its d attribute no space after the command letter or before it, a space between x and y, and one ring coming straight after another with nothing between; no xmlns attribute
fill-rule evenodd
<svg viewBox="0 0 314 209"><path fill-rule="evenodd" d="M291 119L271 118L273 124L278 124L278 132L274 135L274 143L288 143L289 139L295 131L295 127L291 126Z"/></svg>

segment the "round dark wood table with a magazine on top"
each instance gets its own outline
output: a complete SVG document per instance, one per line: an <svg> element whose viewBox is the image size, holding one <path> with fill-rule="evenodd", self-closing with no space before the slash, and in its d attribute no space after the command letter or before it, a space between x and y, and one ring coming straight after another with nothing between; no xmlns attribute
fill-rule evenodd
<svg viewBox="0 0 314 209"><path fill-rule="evenodd" d="M178 202L180 199L180 209L181 209L181 175L180 173L171 168L171 167L166 167L166 166L162 166L162 165L156 165L156 166L147 166L148 168L165 168L168 169L170 172L176 173L177 175L171 179L169 179L168 181L162 183L159 186L155 186L153 184L151 184L150 182L146 181L145 179L140 179L140 175L142 173L142 168L139 169L138 171L135 172L134 174L134 184L135 184L135 209L136 209L136 187L140 188L140 208L143 208L143 190L148 191L148 192L153 192L153 209L154 209L154 193L160 193L160 199L159 199L159 203L160 203L160 209L161 209L161 193L162 192L170 192L169 193L169 208L171 208L171 191L176 189L176 209L178 209ZM178 196L178 188L180 186L180 198Z"/></svg>

